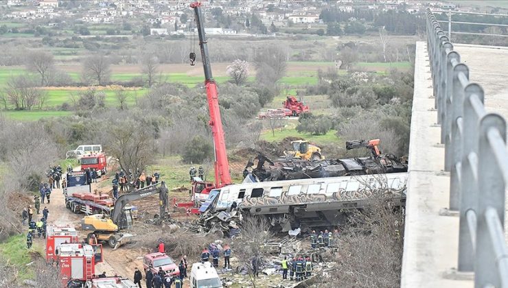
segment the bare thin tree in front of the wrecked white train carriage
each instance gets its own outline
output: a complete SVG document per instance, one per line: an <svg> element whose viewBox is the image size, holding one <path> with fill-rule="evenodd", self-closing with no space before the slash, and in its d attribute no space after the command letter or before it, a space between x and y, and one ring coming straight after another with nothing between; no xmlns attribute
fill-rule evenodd
<svg viewBox="0 0 508 288"><path fill-rule="evenodd" d="M233 250L247 272L252 286L256 287L256 278L253 274L253 267L251 261L254 257L257 260L262 260L262 248L273 237L270 232L270 224L264 217L247 216L241 222L240 237L234 242Z"/></svg>

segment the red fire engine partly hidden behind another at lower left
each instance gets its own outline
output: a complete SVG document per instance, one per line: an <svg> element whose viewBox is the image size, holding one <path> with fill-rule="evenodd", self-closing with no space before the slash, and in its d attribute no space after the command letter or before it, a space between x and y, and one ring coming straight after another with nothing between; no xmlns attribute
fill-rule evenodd
<svg viewBox="0 0 508 288"><path fill-rule="evenodd" d="M73 226L69 224L65 226L48 224L46 237L46 261L56 261L55 249L58 245L78 242L78 232Z"/></svg>

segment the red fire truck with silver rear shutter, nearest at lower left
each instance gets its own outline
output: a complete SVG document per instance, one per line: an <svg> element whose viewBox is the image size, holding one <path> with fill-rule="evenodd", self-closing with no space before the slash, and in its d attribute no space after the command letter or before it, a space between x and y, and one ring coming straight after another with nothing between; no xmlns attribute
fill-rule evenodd
<svg viewBox="0 0 508 288"><path fill-rule="evenodd" d="M69 280L84 285L95 275L95 265L102 262L102 245L62 243L56 246L55 255L63 287L67 287Z"/></svg>

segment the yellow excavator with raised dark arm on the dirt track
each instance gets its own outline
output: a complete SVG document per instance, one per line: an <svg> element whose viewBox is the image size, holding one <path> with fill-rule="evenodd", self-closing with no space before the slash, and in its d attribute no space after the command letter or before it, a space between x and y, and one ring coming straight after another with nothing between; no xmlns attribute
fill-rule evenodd
<svg viewBox="0 0 508 288"><path fill-rule="evenodd" d="M160 182L118 197L113 211L110 213L111 217L95 214L81 219L81 228L93 231L87 235L86 240L90 243L92 235L95 234L97 241L106 241L109 247L118 248L123 241L133 236L121 232L126 228L132 228L132 215L130 210L124 209L125 206L128 202L156 194L159 194L160 217L165 217L165 210L168 206L168 188L165 182Z"/></svg>

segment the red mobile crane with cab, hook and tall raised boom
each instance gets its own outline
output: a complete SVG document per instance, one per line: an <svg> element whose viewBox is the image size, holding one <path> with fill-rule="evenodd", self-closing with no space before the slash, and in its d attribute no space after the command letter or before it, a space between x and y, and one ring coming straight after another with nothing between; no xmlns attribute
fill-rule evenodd
<svg viewBox="0 0 508 288"><path fill-rule="evenodd" d="M217 84L211 75L210 58L208 55L207 38L205 36L205 25L203 23L203 14L201 13L201 3L194 2L190 5L194 9L196 16L196 25L198 27L199 47L201 50L201 60L203 70L205 71L205 88L207 89L208 110L210 114L209 125L213 136L213 149L215 153L215 183L205 182L203 179L195 177L192 181L192 202L176 203L173 200L175 208L187 208L188 213L199 213L197 208L200 202L207 200L208 194L212 189L224 187L231 184L231 175L229 174L229 163L226 153L226 141L224 141L224 130L220 118L219 101L217 93ZM196 53L189 55L191 65L194 65Z"/></svg>

